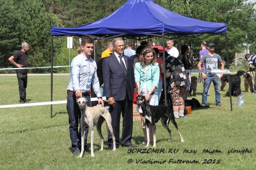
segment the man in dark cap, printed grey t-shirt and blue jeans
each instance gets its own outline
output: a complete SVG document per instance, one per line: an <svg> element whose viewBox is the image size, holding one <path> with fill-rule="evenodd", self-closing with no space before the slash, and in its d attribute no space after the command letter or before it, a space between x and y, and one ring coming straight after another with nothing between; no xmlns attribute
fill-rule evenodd
<svg viewBox="0 0 256 170"><path fill-rule="evenodd" d="M208 45L209 52L203 55L200 61L197 64L198 70L202 70L202 64L205 63L205 67L207 70L218 69L218 63L220 63L220 69L224 69L224 63L220 58L220 55L214 53L215 45L214 43L210 42ZM223 73L220 73L220 78L222 77ZM220 102L220 82L215 80L213 73L202 73L202 77L204 78L204 91L202 94L202 106L206 106L207 104L207 92L211 83L213 82L214 89L215 89L215 102L218 106L224 106Z"/></svg>

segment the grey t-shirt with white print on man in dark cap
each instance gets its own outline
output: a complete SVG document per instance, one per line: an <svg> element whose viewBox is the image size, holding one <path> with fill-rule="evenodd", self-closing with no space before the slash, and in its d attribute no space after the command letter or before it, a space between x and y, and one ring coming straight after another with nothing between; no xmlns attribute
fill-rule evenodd
<svg viewBox="0 0 256 170"><path fill-rule="evenodd" d="M203 55L200 62L205 63L205 69L207 70L213 70L218 69L218 63L220 63L222 60L220 58L220 55L214 53L213 56L209 55L208 53ZM207 76L214 76L213 73L206 73Z"/></svg>

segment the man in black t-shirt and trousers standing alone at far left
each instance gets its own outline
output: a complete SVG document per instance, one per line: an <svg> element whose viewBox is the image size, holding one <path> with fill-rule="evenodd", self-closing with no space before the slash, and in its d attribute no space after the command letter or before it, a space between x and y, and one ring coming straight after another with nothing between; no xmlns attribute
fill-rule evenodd
<svg viewBox="0 0 256 170"><path fill-rule="evenodd" d="M27 68L28 67L28 43L22 42L21 50L12 55L8 60L18 68ZM16 60L16 62L14 61ZM26 102L26 88L28 84L28 76L27 69L17 69L16 74L18 78L19 84L19 92L20 92L20 103Z"/></svg>

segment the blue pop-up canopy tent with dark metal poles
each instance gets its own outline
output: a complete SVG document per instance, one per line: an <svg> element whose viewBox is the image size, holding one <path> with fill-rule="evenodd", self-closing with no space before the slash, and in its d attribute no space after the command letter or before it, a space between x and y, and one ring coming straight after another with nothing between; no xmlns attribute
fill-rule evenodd
<svg viewBox="0 0 256 170"><path fill-rule="evenodd" d="M163 48L166 36L191 36L201 34L221 34L226 37L227 65L228 44L227 24L202 21L184 17L180 14L165 9L153 0L128 0L118 10L93 23L77 27L51 28L51 66L53 63L53 39L65 36L91 36L93 39L112 39L123 37L124 39L144 40L151 37L162 37ZM144 37L141 39L141 37ZM177 38L177 37L174 37ZM174 39L172 38L172 39ZM164 65L165 65L165 55ZM229 69L229 66L228 66ZM164 73L165 77L165 73ZM164 79L165 81L165 79ZM164 82L165 83L165 82ZM231 97L230 97L231 100ZM52 101L52 68L51 68L51 101ZM232 102L231 110L232 110ZM166 104L166 89L165 89ZM52 117L52 105L51 105Z"/></svg>

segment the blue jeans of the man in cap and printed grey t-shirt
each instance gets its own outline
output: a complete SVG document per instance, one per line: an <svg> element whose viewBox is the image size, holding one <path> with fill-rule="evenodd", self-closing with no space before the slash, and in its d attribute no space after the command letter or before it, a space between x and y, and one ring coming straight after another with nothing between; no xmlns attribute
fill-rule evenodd
<svg viewBox="0 0 256 170"><path fill-rule="evenodd" d="M202 94L202 105L204 105L204 106L207 104L207 92L208 92L209 87L212 82L213 82L214 90L215 90L216 105L221 104L221 102L220 102L220 82L215 80L214 76L212 76L212 77L207 76L206 79L204 80L204 91Z"/></svg>

